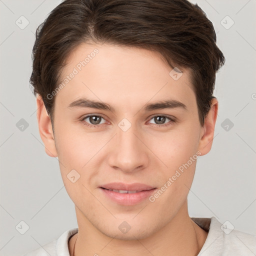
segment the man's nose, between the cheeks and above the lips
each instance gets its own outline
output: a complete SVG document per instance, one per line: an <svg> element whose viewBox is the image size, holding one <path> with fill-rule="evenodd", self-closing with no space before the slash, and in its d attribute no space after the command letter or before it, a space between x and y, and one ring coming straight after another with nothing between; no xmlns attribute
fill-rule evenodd
<svg viewBox="0 0 256 256"><path fill-rule="evenodd" d="M126 131L117 127L108 157L109 165L127 173L145 168L149 162L150 150L143 140L144 136L135 125L131 125Z"/></svg>

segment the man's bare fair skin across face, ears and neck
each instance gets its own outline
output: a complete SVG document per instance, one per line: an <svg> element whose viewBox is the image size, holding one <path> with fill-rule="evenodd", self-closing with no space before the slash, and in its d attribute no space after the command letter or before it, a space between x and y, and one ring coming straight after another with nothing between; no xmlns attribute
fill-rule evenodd
<svg viewBox="0 0 256 256"><path fill-rule="evenodd" d="M127 206L105 197L98 186L119 181L141 182L160 188L197 150L209 152L218 101L200 126L189 69L174 80L161 56L146 49L110 44L80 44L67 58L62 77L93 51L98 54L55 96L54 133L50 118L38 95L37 120L45 152L58 157L66 191L75 204L78 233L68 242L72 255L197 255L207 232L188 215L187 194L196 160L157 198ZM115 108L69 108L80 97L103 101ZM146 103L175 99L180 107L142 110ZM89 127L88 114L104 115L98 127ZM159 127L155 115L165 119ZM126 118L127 131L118 123ZM161 124L162 125L162 124ZM80 178L72 183L67 174L75 169ZM123 221L130 230L122 233Z"/></svg>

